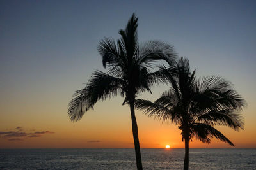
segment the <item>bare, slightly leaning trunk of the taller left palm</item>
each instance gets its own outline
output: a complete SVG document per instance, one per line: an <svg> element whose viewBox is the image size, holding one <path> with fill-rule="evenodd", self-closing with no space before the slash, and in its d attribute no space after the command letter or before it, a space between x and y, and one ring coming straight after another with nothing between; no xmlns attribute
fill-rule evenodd
<svg viewBox="0 0 256 170"><path fill-rule="evenodd" d="M130 110L131 110L131 118L132 118L132 134L133 134L134 148L135 148L135 154L136 154L136 164L137 164L137 169L142 170L140 141L139 141L139 134L138 134L138 126L137 126L137 121L136 121L135 111L134 111L134 103L130 103Z"/></svg>

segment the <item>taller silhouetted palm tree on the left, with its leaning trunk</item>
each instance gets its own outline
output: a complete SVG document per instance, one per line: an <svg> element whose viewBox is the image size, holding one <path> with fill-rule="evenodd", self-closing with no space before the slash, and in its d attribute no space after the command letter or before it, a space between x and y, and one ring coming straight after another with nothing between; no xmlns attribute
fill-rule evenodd
<svg viewBox="0 0 256 170"><path fill-rule="evenodd" d="M112 38L100 41L98 50L108 73L95 71L86 87L74 93L74 99L68 105L68 116L74 122L80 120L84 112L93 109L97 101L118 95L125 97L123 105L129 104L131 110L137 168L142 169L134 101L137 95L145 90L151 92L152 85L164 81L161 71L152 72L156 60L173 65L177 55L173 46L161 41L147 41L139 46L137 27L138 18L133 14L127 27L119 31L121 38L117 42Z"/></svg>

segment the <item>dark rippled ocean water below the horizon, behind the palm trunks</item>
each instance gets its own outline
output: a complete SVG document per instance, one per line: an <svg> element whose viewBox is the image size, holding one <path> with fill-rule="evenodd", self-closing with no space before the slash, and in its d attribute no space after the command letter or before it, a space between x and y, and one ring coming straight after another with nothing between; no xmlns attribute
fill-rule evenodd
<svg viewBox="0 0 256 170"><path fill-rule="evenodd" d="M141 148L143 169L182 169L184 148ZM133 148L0 149L0 169L136 169ZM256 169L256 148L189 148L189 169Z"/></svg>

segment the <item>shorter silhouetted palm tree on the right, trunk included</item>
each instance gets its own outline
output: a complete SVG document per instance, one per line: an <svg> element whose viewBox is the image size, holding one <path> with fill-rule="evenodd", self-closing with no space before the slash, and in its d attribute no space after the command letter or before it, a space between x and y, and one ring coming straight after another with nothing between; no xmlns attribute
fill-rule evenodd
<svg viewBox="0 0 256 170"><path fill-rule="evenodd" d="M243 129L243 117L239 113L245 101L232 89L229 81L220 76L195 78L189 71L188 59L180 59L176 67L166 70L171 88L154 103L138 99L135 108L148 113L149 117L179 125L182 141L185 141L184 169L189 164L189 141L195 137L210 143L215 137L231 146L234 144L214 125L225 125L239 131ZM171 71L170 71L171 70Z"/></svg>

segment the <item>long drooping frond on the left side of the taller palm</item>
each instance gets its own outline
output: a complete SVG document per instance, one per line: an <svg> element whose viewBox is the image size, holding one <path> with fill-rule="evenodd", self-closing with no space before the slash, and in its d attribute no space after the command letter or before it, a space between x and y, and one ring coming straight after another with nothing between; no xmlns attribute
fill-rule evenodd
<svg viewBox="0 0 256 170"><path fill-rule="evenodd" d="M93 109L97 101L122 94L124 81L101 71L95 71L86 87L74 93L74 99L68 104L68 116L73 122L78 121L84 112Z"/></svg>

